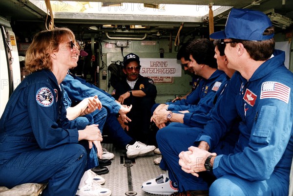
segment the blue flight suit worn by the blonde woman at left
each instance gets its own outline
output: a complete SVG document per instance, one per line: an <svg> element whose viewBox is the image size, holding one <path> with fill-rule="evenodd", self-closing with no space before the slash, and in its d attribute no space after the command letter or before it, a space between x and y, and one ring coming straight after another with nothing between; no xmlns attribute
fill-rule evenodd
<svg viewBox="0 0 293 196"><path fill-rule="evenodd" d="M0 186L48 183L43 196L74 196L87 154L78 144L78 130L69 128L54 74L28 75L0 119Z"/></svg>

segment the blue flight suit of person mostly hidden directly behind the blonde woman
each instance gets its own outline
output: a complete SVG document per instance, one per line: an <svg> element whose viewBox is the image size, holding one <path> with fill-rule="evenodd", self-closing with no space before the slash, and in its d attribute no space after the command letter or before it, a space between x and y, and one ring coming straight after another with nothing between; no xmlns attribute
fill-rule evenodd
<svg viewBox="0 0 293 196"><path fill-rule="evenodd" d="M67 109L68 107L71 107L71 99L68 97L68 94L66 90L63 90L63 102L64 107ZM107 110L105 108L96 109L90 114L86 114L84 116L79 116L76 119L73 119L71 121L71 126L77 128L78 130L84 130L87 125L99 125L99 129L101 133L103 132L103 127L105 124L105 120L107 117ZM99 165L99 160L97 156L97 148L95 145L93 145L93 148L88 149L86 146L88 146L88 142L81 141L80 144L82 144L87 152L87 165L85 170L89 170L91 168L94 168Z"/></svg>

